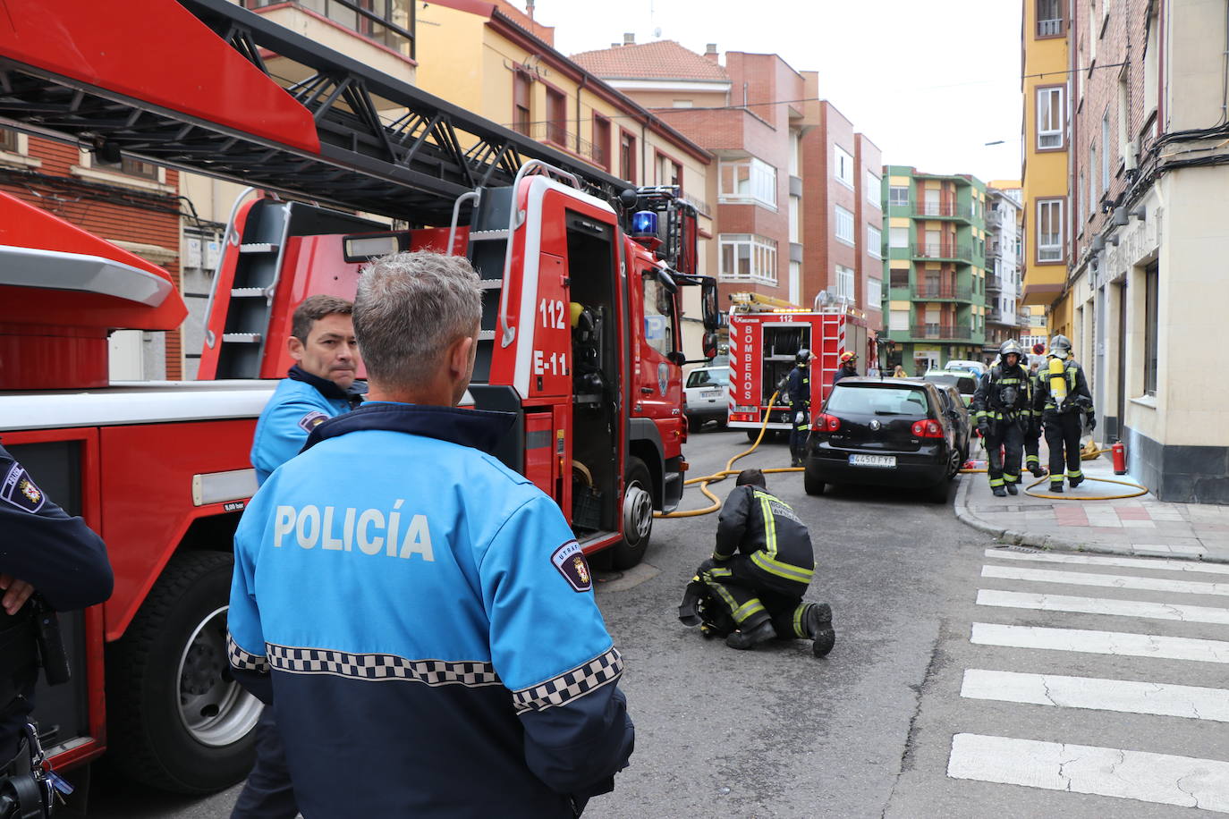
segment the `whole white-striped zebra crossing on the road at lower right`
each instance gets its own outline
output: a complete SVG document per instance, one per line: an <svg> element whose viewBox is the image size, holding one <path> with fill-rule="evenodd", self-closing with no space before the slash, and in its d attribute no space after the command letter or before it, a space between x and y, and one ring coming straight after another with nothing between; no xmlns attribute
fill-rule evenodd
<svg viewBox="0 0 1229 819"><path fill-rule="evenodd" d="M1229 600L1209 604L1229 596L1229 565L1003 549L984 557L961 712L976 702L1020 708L1011 724L1054 736L957 723L948 776L1229 813L1224 743L1182 748L1190 755L1158 743L1176 724L1207 724L1215 737L1229 722L1229 669L1219 668L1229 663ZM1064 736L1090 724L1064 718L1075 712L1145 722L1131 747L1105 747Z"/></svg>

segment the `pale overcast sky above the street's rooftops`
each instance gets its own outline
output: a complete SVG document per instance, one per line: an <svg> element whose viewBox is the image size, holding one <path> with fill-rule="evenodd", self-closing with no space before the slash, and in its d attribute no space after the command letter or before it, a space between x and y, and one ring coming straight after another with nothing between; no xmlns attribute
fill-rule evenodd
<svg viewBox="0 0 1229 819"><path fill-rule="evenodd" d="M795 70L819 71L820 96L884 150L886 165L988 180L1020 178L1020 5L536 0L535 18L556 27L564 54L608 48L624 32L698 53L717 43L723 55L780 54Z"/></svg>

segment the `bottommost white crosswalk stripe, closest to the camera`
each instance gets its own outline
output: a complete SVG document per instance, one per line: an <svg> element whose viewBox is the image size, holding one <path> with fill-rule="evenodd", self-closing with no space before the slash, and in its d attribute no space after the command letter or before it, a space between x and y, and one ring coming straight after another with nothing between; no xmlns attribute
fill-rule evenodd
<svg viewBox="0 0 1229 819"><path fill-rule="evenodd" d="M1229 763L1214 759L965 733L948 776L1229 813Z"/></svg>

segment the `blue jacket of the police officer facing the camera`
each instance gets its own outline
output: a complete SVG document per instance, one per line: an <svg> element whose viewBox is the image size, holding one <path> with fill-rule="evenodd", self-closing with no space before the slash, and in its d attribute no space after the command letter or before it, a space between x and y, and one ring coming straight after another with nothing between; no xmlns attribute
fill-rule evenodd
<svg viewBox="0 0 1229 819"><path fill-rule="evenodd" d="M317 424L350 411L363 387L361 382L355 382L345 390L328 378L313 376L299 365L293 366L256 422L252 465L256 467L257 485L299 454L307 433Z"/></svg>

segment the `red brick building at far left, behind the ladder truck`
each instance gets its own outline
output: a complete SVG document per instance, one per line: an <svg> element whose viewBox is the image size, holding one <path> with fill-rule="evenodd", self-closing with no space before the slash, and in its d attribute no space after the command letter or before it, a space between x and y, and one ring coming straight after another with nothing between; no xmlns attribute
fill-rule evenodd
<svg viewBox="0 0 1229 819"><path fill-rule="evenodd" d="M124 157L103 165L76 145L0 129L0 190L163 268L179 286L178 174ZM116 379L183 377L179 330L111 338Z"/></svg>

